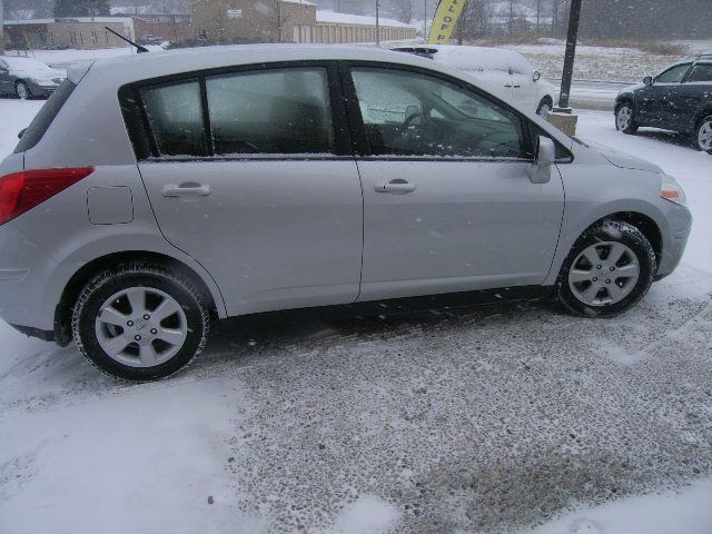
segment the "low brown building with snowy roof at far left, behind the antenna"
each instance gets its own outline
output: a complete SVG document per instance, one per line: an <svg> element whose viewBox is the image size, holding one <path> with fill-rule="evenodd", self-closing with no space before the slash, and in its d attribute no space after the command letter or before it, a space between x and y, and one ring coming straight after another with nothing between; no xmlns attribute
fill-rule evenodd
<svg viewBox="0 0 712 534"><path fill-rule="evenodd" d="M126 42L106 30L135 39L134 21L122 17L78 17L71 19L6 20L7 49L44 48L63 44L76 49L125 47Z"/></svg>

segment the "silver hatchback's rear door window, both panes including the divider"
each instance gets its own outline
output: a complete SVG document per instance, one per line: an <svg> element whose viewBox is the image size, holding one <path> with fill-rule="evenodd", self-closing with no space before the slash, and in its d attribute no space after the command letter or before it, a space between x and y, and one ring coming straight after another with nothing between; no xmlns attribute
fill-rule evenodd
<svg viewBox="0 0 712 534"><path fill-rule="evenodd" d="M334 152L323 68L206 76L139 93L157 157Z"/></svg>

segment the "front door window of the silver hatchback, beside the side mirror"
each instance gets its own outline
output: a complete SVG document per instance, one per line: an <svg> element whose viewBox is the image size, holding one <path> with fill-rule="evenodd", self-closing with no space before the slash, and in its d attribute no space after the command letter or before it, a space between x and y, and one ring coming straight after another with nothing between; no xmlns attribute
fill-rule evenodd
<svg viewBox="0 0 712 534"><path fill-rule="evenodd" d="M520 118L438 78L382 69L353 72L373 154L522 158Z"/></svg>

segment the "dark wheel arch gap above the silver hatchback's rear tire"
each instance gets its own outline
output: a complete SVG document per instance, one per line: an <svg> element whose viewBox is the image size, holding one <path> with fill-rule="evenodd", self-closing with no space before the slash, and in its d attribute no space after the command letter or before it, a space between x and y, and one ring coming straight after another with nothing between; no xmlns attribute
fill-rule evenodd
<svg viewBox="0 0 712 534"><path fill-rule="evenodd" d="M106 269L109 266L117 265L123 261L156 261L166 267L177 270L181 275L189 278L196 287L200 290L201 295L205 297L206 301L210 308L210 315L212 319L218 319L220 313L218 310L218 306L220 306L221 299L220 296L216 296L212 294L208 284L202 279L202 277L190 266L186 265L184 261L176 259L171 256L149 251L149 250L129 250L129 251L120 251L112 253L99 258L96 258L86 265L83 265L79 270L77 270L70 279L67 281L65 289L62 290L61 297L57 307L55 308L55 340L61 345L66 346L71 343L72 334L71 334L71 315L75 303L79 298L81 290L87 285L87 283L100 273L102 269Z"/></svg>

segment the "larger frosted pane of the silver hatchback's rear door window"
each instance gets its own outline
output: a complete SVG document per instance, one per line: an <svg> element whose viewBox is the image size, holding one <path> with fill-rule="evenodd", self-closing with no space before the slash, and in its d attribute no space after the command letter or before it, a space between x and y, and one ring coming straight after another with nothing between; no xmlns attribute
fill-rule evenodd
<svg viewBox="0 0 712 534"><path fill-rule="evenodd" d="M206 83L215 154L334 150L324 69L231 73Z"/></svg>

